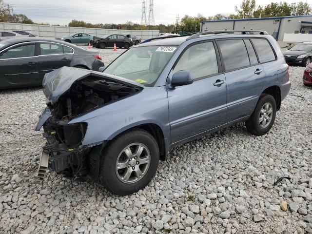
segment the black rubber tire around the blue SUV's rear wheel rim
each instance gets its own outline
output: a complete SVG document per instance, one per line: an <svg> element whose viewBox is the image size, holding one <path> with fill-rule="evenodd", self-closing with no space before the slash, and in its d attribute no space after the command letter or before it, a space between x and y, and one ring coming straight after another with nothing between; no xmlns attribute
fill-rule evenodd
<svg viewBox="0 0 312 234"><path fill-rule="evenodd" d="M270 103L272 106L272 116L271 116L271 122L268 126L262 127L260 125L260 114L262 107L266 104ZM254 108L254 112L251 115L251 117L245 121L245 125L247 128L247 131L253 135L256 136L262 136L270 131L270 129L273 126L274 120L276 117L276 102L272 95L269 94L262 94L258 100L257 105Z"/></svg>

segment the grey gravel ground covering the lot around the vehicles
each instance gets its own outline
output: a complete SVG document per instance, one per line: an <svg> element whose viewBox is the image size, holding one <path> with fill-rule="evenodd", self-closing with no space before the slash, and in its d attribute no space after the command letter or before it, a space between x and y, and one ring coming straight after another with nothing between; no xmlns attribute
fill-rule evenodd
<svg viewBox="0 0 312 234"><path fill-rule="evenodd" d="M124 50L101 50L108 64ZM312 88L291 67L292 88L269 134L244 124L171 150L143 191L35 177L45 143L35 132L40 88L0 92L0 233L312 233ZM281 176L289 176L276 186Z"/></svg>

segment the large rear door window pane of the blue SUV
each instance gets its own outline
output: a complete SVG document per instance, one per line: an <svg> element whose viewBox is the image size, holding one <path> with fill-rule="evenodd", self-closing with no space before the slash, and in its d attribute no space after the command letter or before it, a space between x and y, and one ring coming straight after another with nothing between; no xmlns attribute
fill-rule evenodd
<svg viewBox="0 0 312 234"><path fill-rule="evenodd" d="M250 65L245 43L242 39L218 41L226 71Z"/></svg>

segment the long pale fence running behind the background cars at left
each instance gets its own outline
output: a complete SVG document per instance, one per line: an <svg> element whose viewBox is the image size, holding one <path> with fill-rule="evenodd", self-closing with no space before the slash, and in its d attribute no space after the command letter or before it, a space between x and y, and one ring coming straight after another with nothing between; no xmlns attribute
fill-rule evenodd
<svg viewBox="0 0 312 234"><path fill-rule="evenodd" d="M141 39L150 39L159 36L159 30L119 30L119 29L100 29L100 28L79 28L64 26L47 26L37 24L23 23L3 23L0 22L0 31L23 30L36 34L40 37L60 38L66 37L72 33L82 32L89 33L93 36L103 36L105 34L134 34Z"/></svg>

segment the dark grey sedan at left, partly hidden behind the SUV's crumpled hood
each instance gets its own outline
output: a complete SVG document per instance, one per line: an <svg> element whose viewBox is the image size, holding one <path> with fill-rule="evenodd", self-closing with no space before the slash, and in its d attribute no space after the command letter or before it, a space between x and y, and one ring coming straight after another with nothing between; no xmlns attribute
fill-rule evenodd
<svg viewBox="0 0 312 234"><path fill-rule="evenodd" d="M35 37L0 39L0 89L41 85L44 74L63 66L96 70L98 52Z"/></svg>

